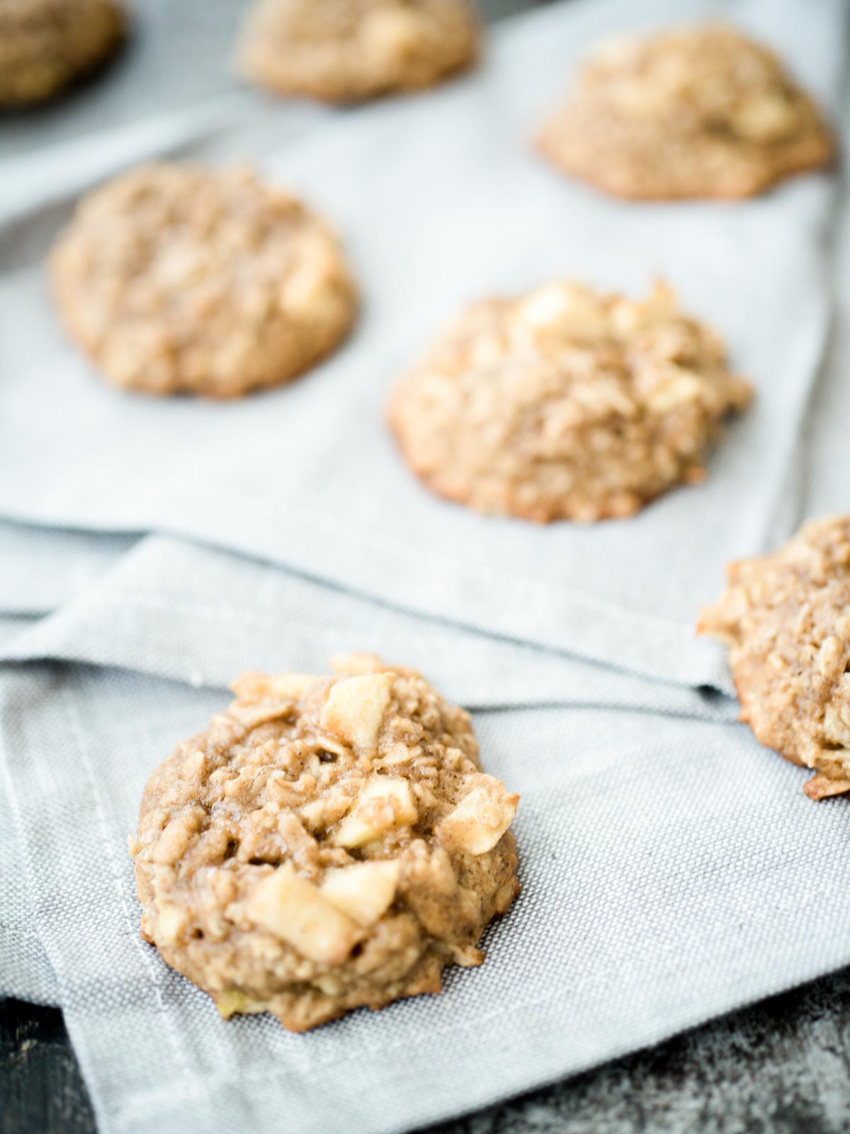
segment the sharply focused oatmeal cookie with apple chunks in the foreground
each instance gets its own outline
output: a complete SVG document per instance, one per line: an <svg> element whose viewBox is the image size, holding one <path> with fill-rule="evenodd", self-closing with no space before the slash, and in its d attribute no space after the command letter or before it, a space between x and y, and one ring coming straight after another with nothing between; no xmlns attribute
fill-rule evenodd
<svg viewBox="0 0 850 1134"><path fill-rule="evenodd" d="M439 992L519 891L519 796L469 716L377 658L245 674L151 776L130 840L142 936L223 1016L301 1032Z"/></svg>

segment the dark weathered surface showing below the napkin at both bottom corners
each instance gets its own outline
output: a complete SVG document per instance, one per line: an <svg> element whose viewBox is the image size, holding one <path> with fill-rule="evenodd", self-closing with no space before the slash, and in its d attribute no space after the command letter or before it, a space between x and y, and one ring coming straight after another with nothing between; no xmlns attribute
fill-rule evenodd
<svg viewBox="0 0 850 1134"><path fill-rule="evenodd" d="M94 1129L61 1013L5 1001L0 1134ZM850 972L843 972L430 1134L848 1129Z"/></svg>

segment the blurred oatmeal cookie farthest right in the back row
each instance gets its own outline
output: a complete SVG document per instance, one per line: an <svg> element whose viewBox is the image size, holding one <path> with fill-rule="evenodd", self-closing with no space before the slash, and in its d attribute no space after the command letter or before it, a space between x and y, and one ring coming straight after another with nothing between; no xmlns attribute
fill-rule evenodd
<svg viewBox="0 0 850 1134"><path fill-rule="evenodd" d="M602 48L541 152L622 197L748 197L832 160L832 133L766 48L731 27Z"/></svg>

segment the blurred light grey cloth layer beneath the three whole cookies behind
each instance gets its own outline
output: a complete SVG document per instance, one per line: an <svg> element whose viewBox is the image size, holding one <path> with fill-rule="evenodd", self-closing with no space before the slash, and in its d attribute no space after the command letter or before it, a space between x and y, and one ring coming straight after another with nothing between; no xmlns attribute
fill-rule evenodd
<svg viewBox="0 0 850 1134"><path fill-rule="evenodd" d="M199 155L256 159L331 217L365 297L332 359L237 405L147 400L99 382L62 339L35 255L61 210L28 226L18 217L27 264L0 251L0 513L168 531L419 613L669 680L720 682L720 654L694 642L694 611L724 561L785 534L788 464L825 341L830 179L799 178L734 208L618 204L545 167L528 141L592 41L717 10L700 0L555 6L508 22L482 71L426 96L286 144L277 122L260 120L199 142ZM842 3L742 0L720 11L774 42L835 110ZM628 522L538 528L477 517L414 481L384 400L458 304L558 276L637 293L656 273L728 337L758 387L704 485Z"/></svg>

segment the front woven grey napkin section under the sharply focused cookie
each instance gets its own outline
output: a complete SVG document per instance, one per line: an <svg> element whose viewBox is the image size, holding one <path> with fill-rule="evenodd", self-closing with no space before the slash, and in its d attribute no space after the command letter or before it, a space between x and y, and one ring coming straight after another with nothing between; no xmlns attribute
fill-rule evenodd
<svg viewBox="0 0 850 1134"><path fill-rule="evenodd" d="M484 966L307 1035L224 1023L138 938L126 849L147 773L224 696L56 663L0 686L37 931L104 1134L401 1131L850 962L847 809L741 726L503 708L475 727L522 796L524 890Z"/></svg>

